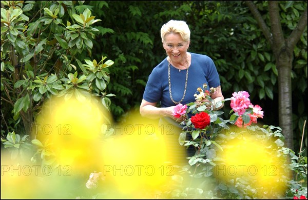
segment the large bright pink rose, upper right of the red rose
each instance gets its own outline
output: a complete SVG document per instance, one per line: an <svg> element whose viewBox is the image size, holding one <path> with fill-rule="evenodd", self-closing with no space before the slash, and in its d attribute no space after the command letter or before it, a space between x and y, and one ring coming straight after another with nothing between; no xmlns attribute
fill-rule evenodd
<svg viewBox="0 0 308 200"><path fill-rule="evenodd" d="M242 115L246 108L251 105L251 102L249 100L249 94L246 91L239 91L234 92L233 97L231 97L231 103L230 107L234 110L234 112L237 112L239 115Z"/></svg>

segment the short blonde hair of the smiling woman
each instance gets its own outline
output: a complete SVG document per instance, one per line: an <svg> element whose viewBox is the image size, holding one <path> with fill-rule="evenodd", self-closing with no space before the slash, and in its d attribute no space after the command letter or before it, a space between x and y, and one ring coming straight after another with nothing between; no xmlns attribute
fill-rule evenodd
<svg viewBox="0 0 308 200"><path fill-rule="evenodd" d="M186 22L171 19L161 28L162 42L165 41L165 36L170 33L179 33L183 41L190 41L190 30Z"/></svg>

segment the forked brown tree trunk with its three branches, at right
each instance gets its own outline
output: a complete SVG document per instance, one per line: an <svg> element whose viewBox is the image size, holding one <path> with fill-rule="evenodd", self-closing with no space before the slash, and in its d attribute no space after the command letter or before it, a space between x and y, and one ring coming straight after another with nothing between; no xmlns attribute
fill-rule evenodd
<svg viewBox="0 0 308 200"><path fill-rule="evenodd" d="M285 39L279 14L279 2L268 2L268 26L256 5L252 1L246 1L246 5L251 10L258 22L267 42L271 44L274 56L276 58L276 67L278 69L278 108L279 108L279 127L285 137L287 148L294 149L293 145L293 119L292 119L292 63L293 51L296 43L307 26L307 8L299 19L296 28L292 31L290 37ZM269 29L269 27L271 27Z"/></svg>

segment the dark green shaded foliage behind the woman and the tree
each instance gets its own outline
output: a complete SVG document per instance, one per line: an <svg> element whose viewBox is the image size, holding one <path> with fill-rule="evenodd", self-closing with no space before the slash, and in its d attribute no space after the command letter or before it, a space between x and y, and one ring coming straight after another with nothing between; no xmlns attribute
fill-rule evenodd
<svg viewBox="0 0 308 200"><path fill-rule="evenodd" d="M44 2L44 1L43 1ZM28 17L39 9L34 4ZM82 52L78 59L99 58L114 61L109 69L110 83L106 92L111 97L114 120L132 109L138 109L145 84L153 67L165 56L161 45L160 28L170 19L187 22L191 30L189 51L213 58L221 78L225 97L234 91L251 94L253 104L264 110L260 123L278 126L277 69L270 47L243 1L84 1L74 2L76 13L90 9L102 21L93 25L99 33L92 39L91 55ZM267 2L255 2L265 14ZM283 32L290 34L305 1L279 2ZM53 58L56 61L56 58ZM52 63L52 60L51 60ZM78 66L72 61L72 64ZM295 152L299 151L304 120L307 119L307 31L294 51L293 63L293 129ZM72 70L72 69L71 69ZM82 72L80 68L78 72ZM74 70L71 71L74 73ZM23 132L22 123L13 119L12 106L2 101L1 136L13 130ZM227 106L223 108L229 110ZM5 125L5 123L7 125ZM304 148L307 147L307 136Z"/></svg>

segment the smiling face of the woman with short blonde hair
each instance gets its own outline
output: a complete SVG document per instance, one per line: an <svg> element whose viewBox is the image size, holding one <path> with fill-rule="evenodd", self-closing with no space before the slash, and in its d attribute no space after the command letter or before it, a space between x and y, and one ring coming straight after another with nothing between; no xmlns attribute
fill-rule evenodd
<svg viewBox="0 0 308 200"><path fill-rule="evenodd" d="M172 61L180 62L182 58L187 59L186 52L189 42L183 41L179 33L167 34L163 46Z"/></svg>

